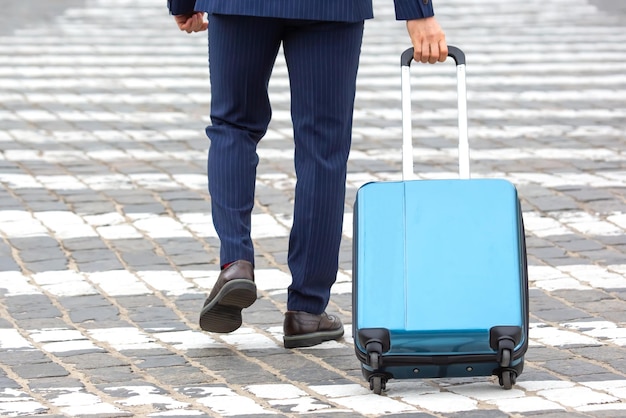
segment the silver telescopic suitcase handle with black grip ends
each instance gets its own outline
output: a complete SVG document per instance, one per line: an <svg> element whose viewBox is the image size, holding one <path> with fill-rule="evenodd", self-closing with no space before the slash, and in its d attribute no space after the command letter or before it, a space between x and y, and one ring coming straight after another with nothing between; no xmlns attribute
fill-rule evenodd
<svg viewBox="0 0 626 418"><path fill-rule="evenodd" d="M448 45L448 56L456 62L459 114L459 177L470 178L469 140L467 137L467 88L465 84L465 54L456 46ZM413 177L413 137L411 127L410 66L413 48L402 53L402 179Z"/></svg>

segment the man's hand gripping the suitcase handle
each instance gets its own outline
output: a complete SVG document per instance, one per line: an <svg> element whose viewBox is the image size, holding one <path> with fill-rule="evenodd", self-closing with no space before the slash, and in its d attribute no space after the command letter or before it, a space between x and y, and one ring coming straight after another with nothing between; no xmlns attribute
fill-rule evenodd
<svg viewBox="0 0 626 418"><path fill-rule="evenodd" d="M439 22L434 17L407 20L406 28L413 44L413 59L434 64L448 58L448 44Z"/></svg>

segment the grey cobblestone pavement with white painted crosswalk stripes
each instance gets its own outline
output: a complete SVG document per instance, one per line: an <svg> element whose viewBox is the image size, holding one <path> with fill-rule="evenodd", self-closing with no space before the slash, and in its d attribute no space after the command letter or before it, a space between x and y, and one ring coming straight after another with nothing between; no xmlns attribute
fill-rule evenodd
<svg viewBox="0 0 626 418"><path fill-rule="evenodd" d="M45 18L33 12L40 3L9 9L0 33L0 414L626 416L623 8L438 2L449 42L468 57L473 172L510 179L523 201L531 346L510 391L492 378L392 380L376 396L351 335L282 348L295 181L284 62L259 149L260 298L240 330L207 334L197 314L218 242L206 38L179 33L164 2L55 0ZM392 2L375 4L329 308L348 332L355 191L400 172L408 38ZM412 71L416 171L455 176L453 66Z"/></svg>

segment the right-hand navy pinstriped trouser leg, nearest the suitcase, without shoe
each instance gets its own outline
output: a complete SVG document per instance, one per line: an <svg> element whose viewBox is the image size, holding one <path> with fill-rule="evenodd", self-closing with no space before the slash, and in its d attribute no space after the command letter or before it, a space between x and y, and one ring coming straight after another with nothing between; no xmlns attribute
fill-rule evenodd
<svg viewBox="0 0 626 418"><path fill-rule="evenodd" d="M338 269L363 22L300 23L285 34L297 174L287 308L324 312Z"/></svg>

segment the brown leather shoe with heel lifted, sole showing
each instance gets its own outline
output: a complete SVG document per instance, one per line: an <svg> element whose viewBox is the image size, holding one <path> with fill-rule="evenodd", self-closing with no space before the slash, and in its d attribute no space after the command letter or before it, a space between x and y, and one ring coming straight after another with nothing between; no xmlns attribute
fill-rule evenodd
<svg viewBox="0 0 626 418"><path fill-rule="evenodd" d="M200 313L200 328L232 332L241 326L241 310L256 300L252 263L238 260L220 273Z"/></svg>

